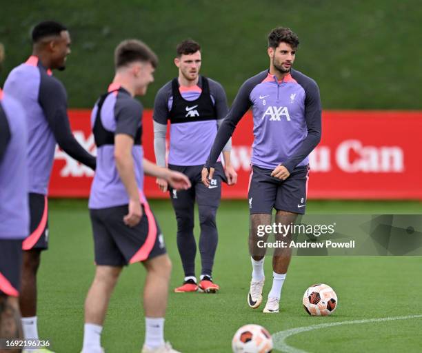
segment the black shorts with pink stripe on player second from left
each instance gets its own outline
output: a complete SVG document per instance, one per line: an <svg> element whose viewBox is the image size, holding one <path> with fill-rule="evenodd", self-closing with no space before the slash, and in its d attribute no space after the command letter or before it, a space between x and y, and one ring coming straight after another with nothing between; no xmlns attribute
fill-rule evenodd
<svg viewBox="0 0 422 353"><path fill-rule="evenodd" d="M22 243L23 250L48 249L48 199L46 195L29 194L30 236Z"/></svg>

